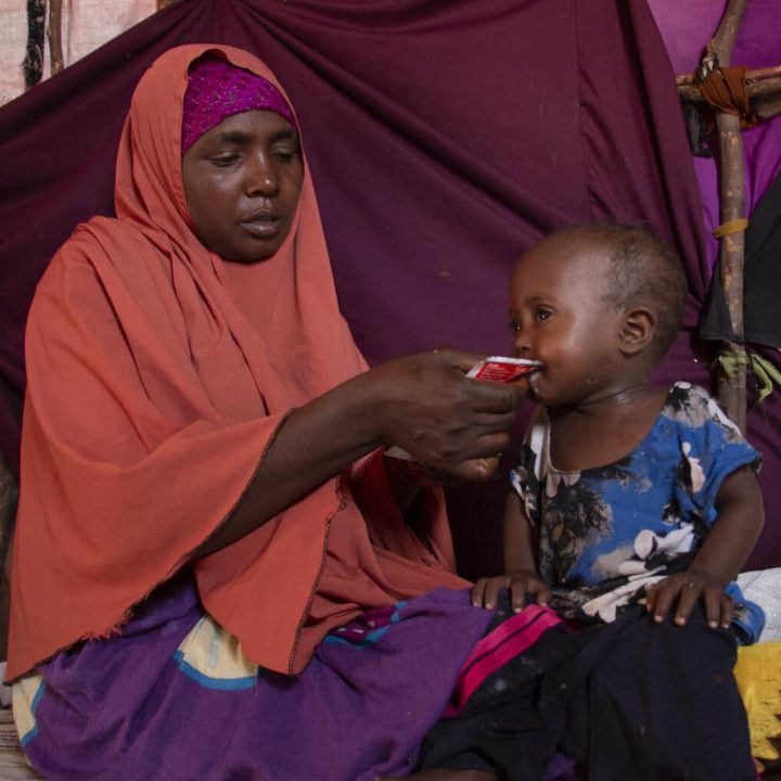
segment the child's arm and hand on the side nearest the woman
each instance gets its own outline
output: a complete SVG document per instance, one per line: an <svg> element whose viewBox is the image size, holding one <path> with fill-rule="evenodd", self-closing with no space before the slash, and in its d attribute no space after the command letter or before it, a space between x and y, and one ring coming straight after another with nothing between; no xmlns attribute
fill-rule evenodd
<svg viewBox="0 0 781 781"><path fill-rule="evenodd" d="M477 580L472 587L472 604L475 607L496 607L501 589L510 589L510 600L515 613L520 613L526 605L526 594L536 594L537 604L548 602L550 590L537 574L536 542L537 535L526 517L521 500L514 490L510 490L504 502L507 574Z"/></svg>

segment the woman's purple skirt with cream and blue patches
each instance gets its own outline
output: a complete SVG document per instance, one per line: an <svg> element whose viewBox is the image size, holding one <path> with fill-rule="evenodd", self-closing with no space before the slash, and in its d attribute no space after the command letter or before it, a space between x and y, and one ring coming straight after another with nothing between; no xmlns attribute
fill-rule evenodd
<svg viewBox="0 0 781 781"><path fill-rule="evenodd" d="M120 637L14 687L47 779L373 781L406 776L491 614L439 589L334 631L298 678L258 668L179 579Z"/></svg>

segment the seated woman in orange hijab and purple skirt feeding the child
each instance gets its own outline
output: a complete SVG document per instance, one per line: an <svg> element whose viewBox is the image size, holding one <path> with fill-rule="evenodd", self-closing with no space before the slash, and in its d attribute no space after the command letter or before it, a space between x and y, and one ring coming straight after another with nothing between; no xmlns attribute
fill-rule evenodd
<svg viewBox="0 0 781 781"><path fill-rule="evenodd" d="M490 615L439 494L382 449L486 478L522 390L450 350L366 370L295 116L245 52L153 64L116 213L77 228L28 322L27 755L49 779L406 774Z"/></svg>

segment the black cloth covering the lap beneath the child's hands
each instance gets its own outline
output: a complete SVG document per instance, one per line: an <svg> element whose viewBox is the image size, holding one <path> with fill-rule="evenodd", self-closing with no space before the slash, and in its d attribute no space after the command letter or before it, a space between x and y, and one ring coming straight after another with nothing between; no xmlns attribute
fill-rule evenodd
<svg viewBox="0 0 781 781"><path fill-rule="evenodd" d="M709 629L700 607L686 627L657 625L643 607L576 632L555 627L439 721L421 765L540 781L561 778L559 751L589 781L752 781L734 661L732 630Z"/></svg>

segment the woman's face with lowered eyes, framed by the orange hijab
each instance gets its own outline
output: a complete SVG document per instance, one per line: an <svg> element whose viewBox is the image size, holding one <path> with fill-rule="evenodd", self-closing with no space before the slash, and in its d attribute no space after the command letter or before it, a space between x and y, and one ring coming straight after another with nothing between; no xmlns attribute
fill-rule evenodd
<svg viewBox="0 0 781 781"><path fill-rule="evenodd" d="M234 114L187 151L182 180L193 229L209 249L226 260L264 260L287 236L298 204L298 135L270 111Z"/></svg>

